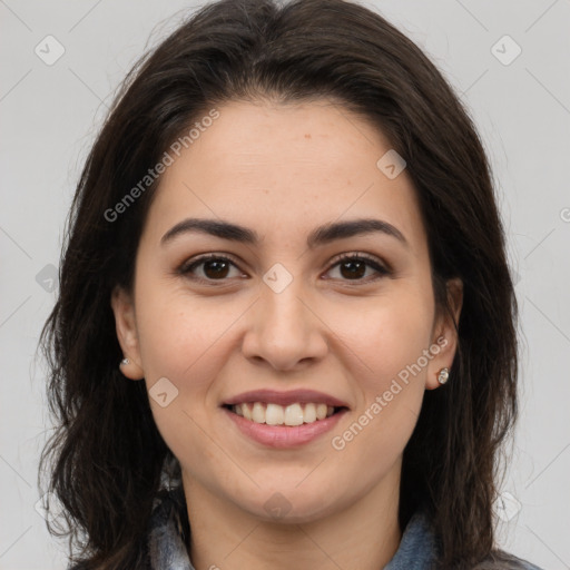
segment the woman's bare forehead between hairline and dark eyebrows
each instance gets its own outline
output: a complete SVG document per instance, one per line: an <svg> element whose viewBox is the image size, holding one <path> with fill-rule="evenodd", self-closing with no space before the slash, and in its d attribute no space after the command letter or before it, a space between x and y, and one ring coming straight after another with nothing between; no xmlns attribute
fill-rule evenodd
<svg viewBox="0 0 570 570"><path fill-rule="evenodd" d="M264 244L344 218L377 217L422 248L411 179L405 169L390 178L379 167L390 141L365 119L327 100L232 101L216 111L212 121L198 118L179 156L170 151L145 229L154 243L185 217L238 223Z"/></svg>

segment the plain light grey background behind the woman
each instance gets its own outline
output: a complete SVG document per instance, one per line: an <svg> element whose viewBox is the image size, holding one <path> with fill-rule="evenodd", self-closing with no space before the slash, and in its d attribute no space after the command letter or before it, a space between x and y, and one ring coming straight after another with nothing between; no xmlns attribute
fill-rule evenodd
<svg viewBox="0 0 570 570"><path fill-rule="evenodd" d="M568 569L570 0L365 4L439 65L471 109L491 155L509 256L520 276L523 343L521 417L503 484L504 508L498 507L505 519L499 539L504 549L544 569ZM0 0L2 570L66 566L65 542L48 534L35 509L49 420L46 372L33 356L56 295L49 291L50 264L58 265L79 169L112 91L145 47L164 38L194 6ZM52 66L35 53L48 35L66 50ZM497 50L503 60L514 53L509 40L492 51L505 35L522 49L510 65L495 57Z"/></svg>

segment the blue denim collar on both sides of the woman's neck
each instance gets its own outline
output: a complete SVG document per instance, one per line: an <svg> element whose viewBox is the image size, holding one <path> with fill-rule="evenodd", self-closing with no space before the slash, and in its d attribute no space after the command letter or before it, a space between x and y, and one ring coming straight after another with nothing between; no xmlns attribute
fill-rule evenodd
<svg viewBox="0 0 570 570"><path fill-rule="evenodd" d="M184 540L181 487L157 499L148 534L149 570L195 570ZM410 519L400 547L384 570L429 570L435 557L435 540L423 510Z"/></svg>

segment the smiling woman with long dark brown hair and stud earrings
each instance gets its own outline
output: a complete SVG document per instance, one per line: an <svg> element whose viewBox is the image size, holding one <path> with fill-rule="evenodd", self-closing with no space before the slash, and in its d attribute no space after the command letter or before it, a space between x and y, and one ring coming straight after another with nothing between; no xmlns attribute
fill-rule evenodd
<svg viewBox="0 0 570 570"><path fill-rule="evenodd" d="M223 0L129 73L42 332L76 569L527 568L517 303L475 128L341 0Z"/></svg>

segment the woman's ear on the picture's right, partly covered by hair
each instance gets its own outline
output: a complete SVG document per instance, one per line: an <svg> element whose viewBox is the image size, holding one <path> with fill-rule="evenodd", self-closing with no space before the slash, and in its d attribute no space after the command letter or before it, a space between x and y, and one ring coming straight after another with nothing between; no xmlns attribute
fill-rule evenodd
<svg viewBox="0 0 570 570"><path fill-rule="evenodd" d="M430 346L430 352L434 354L434 356L428 365L428 379L425 380L426 390L434 390L441 386L438 382L441 368L449 368L450 380L453 380L451 363L453 362L455 350L458 347L458 332L455 331L455 324L459 327L461 307L463 306L463 282L456 277L449 279L446 285L448 299L452 315L441 314L436 318L435 326L433 328L432 344Z"/></svg>

